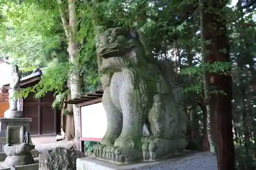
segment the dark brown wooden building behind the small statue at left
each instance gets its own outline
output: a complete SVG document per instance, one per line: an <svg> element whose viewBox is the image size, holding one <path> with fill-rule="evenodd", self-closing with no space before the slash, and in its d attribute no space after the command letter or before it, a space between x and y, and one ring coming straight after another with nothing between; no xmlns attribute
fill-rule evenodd
<svg viewBox="0 0 256 170"><path fill-rule="evenodd" d="M20 80L20 88L27 88L36 85L40 81L41 71L26 76ZM4 85L2 90L8 92L10 84ZM34 99L34 93L29 93L26 99L22 100L20 109L24 111L24 117L32 118L30 124L30 134L36 136L56 136L60 133L60 110L52 108L55 100L54 93L48 92L44 97Z"/></svg>

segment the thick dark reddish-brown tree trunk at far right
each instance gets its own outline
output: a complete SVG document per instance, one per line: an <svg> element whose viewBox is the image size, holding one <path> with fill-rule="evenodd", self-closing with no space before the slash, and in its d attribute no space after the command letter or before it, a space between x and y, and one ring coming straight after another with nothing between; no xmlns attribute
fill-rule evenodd
<svg viewBox="0 0 256 170"><path fill-rule="evenodd" d="M206 1L204 11L204 35L209 51L206 55L208 63L229 62L229 44L226 33L226 1ZM209 74L212 86L223 93L212 94L210 107L214 114L217 141L217 160L219 170L234 169L234 144L232 133L232 79L230 75Z"/></svg>

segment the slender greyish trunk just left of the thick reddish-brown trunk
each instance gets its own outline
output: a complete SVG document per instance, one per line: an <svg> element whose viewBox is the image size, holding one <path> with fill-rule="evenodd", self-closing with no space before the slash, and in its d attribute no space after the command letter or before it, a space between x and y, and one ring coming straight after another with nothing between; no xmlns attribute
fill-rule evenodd
<svg viewBox="0 0 256 170"><path fill-rule="evenodd" d="M206 111L206 128L207 128L207 137L209 142L209 149L210 152L215 152L214 141L212 140L212 131L211 131L211 110L209 106L209 81L207 70L205 68L206 64L206 47L205 47L205 35L204 35L204 6L202 0L199 1L199 8L200 8L200 31L201 31L201 55L202 55L202 64L203 64L203 89L204 89L204 105Z"/></svg>

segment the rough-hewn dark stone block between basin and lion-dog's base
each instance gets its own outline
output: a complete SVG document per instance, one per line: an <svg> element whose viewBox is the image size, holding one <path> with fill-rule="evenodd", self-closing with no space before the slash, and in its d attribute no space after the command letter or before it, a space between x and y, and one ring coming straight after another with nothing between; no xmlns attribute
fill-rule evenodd
<svg viewBox="0 0 256 170"><path fill-rule="evenodd" d="M84 154L77 150L55 148L39 153L39 170L74 170L76 159L84 157Z"/></svg>

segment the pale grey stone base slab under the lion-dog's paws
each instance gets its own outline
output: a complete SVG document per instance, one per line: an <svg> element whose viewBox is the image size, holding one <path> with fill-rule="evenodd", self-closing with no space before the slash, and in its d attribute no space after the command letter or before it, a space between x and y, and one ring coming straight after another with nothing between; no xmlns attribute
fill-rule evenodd
<svg viewBox="0 0 256 170"><path fill-rule="evenodd" d="M217 158L211 153L190 152L172 158L126 165L116 165L95 158L78 158L76 170L217 170Z"/></svg>

